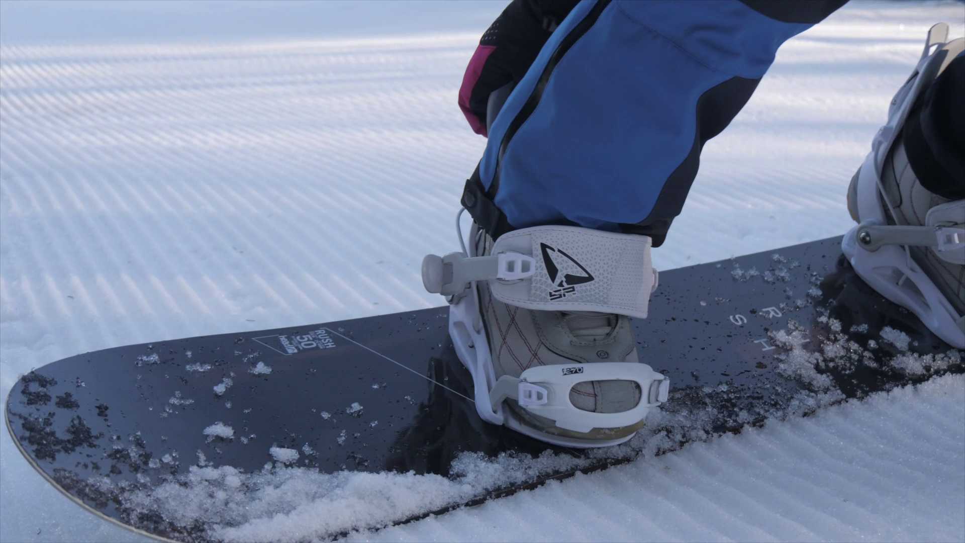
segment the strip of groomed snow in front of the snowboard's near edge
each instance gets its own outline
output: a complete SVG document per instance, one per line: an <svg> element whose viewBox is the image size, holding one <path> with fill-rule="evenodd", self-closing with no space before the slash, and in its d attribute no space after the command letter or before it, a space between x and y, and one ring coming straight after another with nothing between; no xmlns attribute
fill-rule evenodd
<svg viewBox="0 0 965 543"><path fill-rule="evenodd" d="M963 443L949 376L346 540L961 541Z"/></svg>

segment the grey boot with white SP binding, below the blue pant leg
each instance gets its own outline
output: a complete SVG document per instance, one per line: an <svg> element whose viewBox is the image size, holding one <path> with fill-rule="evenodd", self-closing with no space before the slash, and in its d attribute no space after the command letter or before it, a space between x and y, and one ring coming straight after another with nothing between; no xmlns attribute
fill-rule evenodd
<svg viewBox="0 0 965 543"><path fill-rule="evenodd" d="M649 251L646 236L571 226L494 243L474 225L467 253L426 257L483 420L565 446L633 437L670 386L640 362L630 327L656 287Z"/></svg>

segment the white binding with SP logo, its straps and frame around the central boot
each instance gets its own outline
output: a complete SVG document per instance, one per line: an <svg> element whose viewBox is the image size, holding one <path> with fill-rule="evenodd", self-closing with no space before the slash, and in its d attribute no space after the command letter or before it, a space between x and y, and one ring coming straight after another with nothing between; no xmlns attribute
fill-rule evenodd
<svg viewBox="0 0 965 543"><path fill-rule="evenodd" d="M458 229L458 215L456 225ZM477 238L483 236L476 231ZM475 249L470 256L461 232L459 241L462 252L425 257L423 283L428 292L445 296L451 304L450 335L459 360L472 375L476 410L483 420L546 443L610 446L626 442L635 431L609 439L586 439L572 433L596 431L605 436L608 429L638 425L651 409L667 401L669 380L647 364L634 363L635 359L532 365L518 377L497 377L481 310L480 289L488 287L492 297L513 308L646 317L649 295L657 283L657 273L649 264L649 238L570 226L538 226L501 236L482 256L475 256ZM591 286L593 282L596 284ZM631 409L594 413L573 405L574 386L618 381L634 384L640 391ZM510 409L509 402L516 409ZM533 419L551 421L554 431L526 422Z"/></svg>

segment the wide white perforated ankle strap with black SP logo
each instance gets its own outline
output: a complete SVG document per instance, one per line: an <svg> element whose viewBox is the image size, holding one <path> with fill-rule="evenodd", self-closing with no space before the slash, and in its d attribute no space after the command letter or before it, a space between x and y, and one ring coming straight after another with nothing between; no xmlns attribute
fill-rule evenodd
<svg viewBox="0 0 965 543"><path fill-rule="evenodd" d="M494 255L514 254L533 272L520 280L490 280L493 296L510 305L549 311L598 311L646 318L657 272L650 238L575 226L534 226L496 240ZM505 272L504 272L505 273Z"/></svg>

